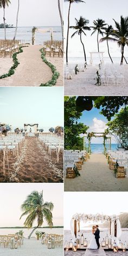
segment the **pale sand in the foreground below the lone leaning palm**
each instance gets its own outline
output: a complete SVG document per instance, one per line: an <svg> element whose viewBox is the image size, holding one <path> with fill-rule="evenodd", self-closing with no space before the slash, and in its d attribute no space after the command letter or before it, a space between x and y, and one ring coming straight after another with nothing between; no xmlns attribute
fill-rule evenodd
<svg viewBox="0 0 128 256"><path fill-rule="evenodd" d="M56 247L55 249L48 249L46 245L41 244L41 240L37 241L35 238L30 240L24 239L24 244L17 249L0 248L1 256L63 256L63 248Z"/></svg>

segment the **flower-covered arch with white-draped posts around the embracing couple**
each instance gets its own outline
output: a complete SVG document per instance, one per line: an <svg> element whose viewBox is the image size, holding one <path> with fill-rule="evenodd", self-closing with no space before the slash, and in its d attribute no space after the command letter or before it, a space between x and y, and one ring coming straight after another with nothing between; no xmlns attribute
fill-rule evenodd
<svg viewBox="0 0 128 256"><path fill-rule="evenodd" d="M118 216L114 215L114 216L106 216L106 215L100 215L100 214L96 214L95 218L94 215L88 215L88 214L76 214L77 216L73 216L72 219L74 220L74 235L75 238L77 236L77 233L80 232L80 221L84 221L84 219L86 221L95 221L96 223L99 221L110 221L110 235L111 235L111 225L112 225L112 221L114 221L114 236L117 237L117 220L118 220ZM77 227L79 227L77 229Z"/></svg>

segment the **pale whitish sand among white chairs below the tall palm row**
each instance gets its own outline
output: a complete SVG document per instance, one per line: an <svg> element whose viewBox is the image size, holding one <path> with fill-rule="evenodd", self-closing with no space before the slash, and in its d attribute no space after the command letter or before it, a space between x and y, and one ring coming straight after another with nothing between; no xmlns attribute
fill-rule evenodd
<svg viewBox="0 0 128 256"><path fill-rule="evenodd" d="M98 67L88 66L85 72L74 75L72 80L65 79L65 95L127 95L128 93L128 69L125 66L125 85L124 83L114 86L110 82L108 85L96 86L95 75Z"/></svg>

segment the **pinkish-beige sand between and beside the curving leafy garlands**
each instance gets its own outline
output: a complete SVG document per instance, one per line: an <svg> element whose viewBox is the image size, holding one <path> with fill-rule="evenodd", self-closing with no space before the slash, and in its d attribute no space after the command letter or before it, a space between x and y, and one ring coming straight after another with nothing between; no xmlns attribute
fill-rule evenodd
<svg viewBox="0 0 128 256"><path fill-rule="evenodd" d="M15 69L15 74L9 78L1 79L0 86L40 86L41 83L46 83L52 79L52 70L41 59L40 49L42 47L41 45L24 47L23 53L17 55L20 65ZM2 64L0 74L8 73L12 66L12 59L1 58L0 63ZM54 63L59 67L59 72L61 73L60 81L57 85L62 86L62 59L55 57Z"/></svg>

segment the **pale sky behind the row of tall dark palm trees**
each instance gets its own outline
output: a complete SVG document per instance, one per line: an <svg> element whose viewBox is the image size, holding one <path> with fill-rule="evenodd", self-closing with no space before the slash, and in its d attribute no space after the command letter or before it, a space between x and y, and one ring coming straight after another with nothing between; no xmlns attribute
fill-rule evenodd
<svg viewBox="0 0 128 256"><path fill-rule="evenodd" d="M75 18L79 19L80 16L85 17L89 20L89 26L93 25L93 20L97 20L98 18L102 18L106 23L113 25L114 20L117 22L120 21L120 15L124 17L128 16L128 1L127 0L85 0L85 3L72 4L71 5L71 15L70 15L70 25L75 25ZM67 35L67 13L68 13L69 3L65 3L65 38ZM71 35L74 30L70 29L69 32L69 51L68 55L74 57L83 56L83 49L80 43L79 36L74 36L71 39ZM85 49L87 56L89 56L89 52L97 52L97 33L91 36L90 31L87 31L87 36L83 36L83 42L85 44ZM110 53L113 57L120 57L120 48L116 43L110 42ZM100 51L105 52L104 56L108 56L106 42L100 43ZM125 56L128 57L128 47L125 47Z"/></svg>

